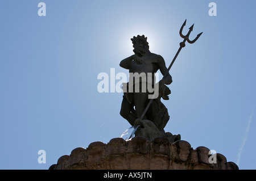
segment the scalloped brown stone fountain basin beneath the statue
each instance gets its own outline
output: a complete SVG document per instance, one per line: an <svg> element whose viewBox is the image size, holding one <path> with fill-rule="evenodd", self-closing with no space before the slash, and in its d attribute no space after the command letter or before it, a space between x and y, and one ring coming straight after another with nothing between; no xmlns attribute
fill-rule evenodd
<svg viewBox="0 0 256 181"><path fill-rule="evenodd" d="M217 153L217 163L209 163L209 149L199 146L191 148L187 141L171 144L167 138L159 137L147 141L134 137L130 141L113 138L108 144L92 142L88 148L76 148L70 155L63 155L49 170L123 170L123 169L207 169L236 170L236 163L227 162Z"/></svg>

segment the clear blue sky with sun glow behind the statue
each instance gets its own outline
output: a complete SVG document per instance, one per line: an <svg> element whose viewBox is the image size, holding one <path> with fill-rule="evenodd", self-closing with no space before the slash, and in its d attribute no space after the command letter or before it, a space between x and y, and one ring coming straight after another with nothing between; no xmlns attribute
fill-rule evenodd
<svg viewBox="0 0 256 181"><path fill-rule="evenodd" d="M46 16L38 16L38 3ZM209 16L210 2L217 16ZM195 23L195 44L170 71L165 131L205 146L240 169L256 169L255 1L1 1L0 169L48 169L94 141L130 127L122 93L100 93L99 73L127 73L130 38L144 34L169 65L179 29ZM38 163L38 151L46 163Z"/></svg>

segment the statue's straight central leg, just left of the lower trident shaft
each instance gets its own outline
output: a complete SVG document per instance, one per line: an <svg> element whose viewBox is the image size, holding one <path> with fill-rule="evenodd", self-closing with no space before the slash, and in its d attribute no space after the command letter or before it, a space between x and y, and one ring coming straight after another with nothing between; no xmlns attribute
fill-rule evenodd
<svg viewBox="0 0 256 181"><path fill-rule="evenodd" d="M145 110L148 102L148 93L147 92L134 92L134 106L136 115L141 118L143 111ZM146 116L142 120L147 119Z"/></svg>

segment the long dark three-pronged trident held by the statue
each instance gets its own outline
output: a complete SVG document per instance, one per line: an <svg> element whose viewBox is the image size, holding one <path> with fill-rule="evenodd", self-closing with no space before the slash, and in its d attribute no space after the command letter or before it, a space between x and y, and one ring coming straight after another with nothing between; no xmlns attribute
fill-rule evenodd
<svg viewBox="0 0 256 181"><path fill-rule="evenodd" d="M174 64L174 61L176 60L177 56L179 55L180 50L181 50L183 47L185 47L185 42L188 41L188 43L193 44L193 43L196 42L197 39L199 39L199 37L200 37L200 36L202 35L202 33L203 33L203 32L199 33L199 34L196 36L196 38L195 38L194 40L192 40L192 41L189 40L189 35L190 35L190 33L193 31L194 24L189 28L189 31L188 31L187 35L184 36L184 35L182 34L182 31L183 31L184 26L186 25L186 22L187 22L187 19L185 19L185 22L183 23L183 25L182 25L181 28L180 28L180 36L181 36L184 40L183 40L183 42L180 43L180 48L179 48L179 50L177 50L177 53L175 54L175 57L174 57L174 59L172 60L170 66L168 67L168 69L167 69L166 73L164 74L163 78L165 78L165 77L168 75L168 72L170 71L170 69L171 69L171 67L172 67L172 64ZM163 79L163 78L162 78L162 79ZM145 108L144 112L143 112L142 115L141 115L141 120L143 119L144 115L146 114L146 112L147 112L147 110L148 110L148 107L150 107L150 104L152 103L152 101L153 101L153 99L150 99L150 102L148 102L147 107Z"/></svg>

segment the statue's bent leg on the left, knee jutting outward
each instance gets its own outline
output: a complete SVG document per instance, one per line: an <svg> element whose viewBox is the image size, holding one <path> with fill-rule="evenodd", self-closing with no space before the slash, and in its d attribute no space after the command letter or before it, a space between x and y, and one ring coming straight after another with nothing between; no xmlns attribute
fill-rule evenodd
<svg viewBox="0 0 256 181"><path fill-rule="evenodd" d="M131 110L133 110L133 104L130 104L126 98L123 98L120 115L133 126L137 117L131 113Z"/></svg>

